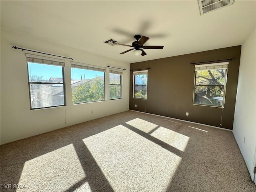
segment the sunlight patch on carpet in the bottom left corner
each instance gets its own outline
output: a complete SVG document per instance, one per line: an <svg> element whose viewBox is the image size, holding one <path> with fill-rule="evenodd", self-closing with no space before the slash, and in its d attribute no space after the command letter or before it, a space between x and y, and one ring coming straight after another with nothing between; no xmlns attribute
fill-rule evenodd
<svg viewBox="0 0 256 192"><path fill-rule="evenodd" d="M23 191L65 191L85 178L72 144L26 161L20 176ZM88 186L89 187L89 186ZM88 188L90 191L90 188Z"/></svg>

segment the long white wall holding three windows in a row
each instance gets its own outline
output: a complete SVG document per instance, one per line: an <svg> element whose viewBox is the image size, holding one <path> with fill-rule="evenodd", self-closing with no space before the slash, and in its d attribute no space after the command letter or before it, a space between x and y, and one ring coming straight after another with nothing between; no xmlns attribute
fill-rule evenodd
<svg viewBox="0 0 256 192"><path fill-rule="evenodd" d="M66 106L30 110L28 72L25 53L12 46L38 50L73 58L74 62L106 67L125 68L122 99L109 100L109 80L106 81L106 101L72 105L70 60L65 60ZM85 45L86 46L86 45ZM28 52L30 54L36 54ZM38 54L40 55L40 54ZM43 55L46 56L46 55ZM1 29L1 144L44 132L78 124L95 118L128 110L130 64L75 48ZM108 75L107 75L108 77ZM93 110L93 114L91 111ZM66 121L66 123L65 123Z"/></svg>

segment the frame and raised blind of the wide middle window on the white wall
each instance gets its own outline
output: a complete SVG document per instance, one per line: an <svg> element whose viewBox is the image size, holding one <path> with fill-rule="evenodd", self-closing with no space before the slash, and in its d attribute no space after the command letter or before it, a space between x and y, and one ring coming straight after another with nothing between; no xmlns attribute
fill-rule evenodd
<svg viewBox="0 0 256 192"><path fill-rule="evenodd" d="M90 64L78 63L78 62L70 62L70 64L71 64L70 74L72 73L72 68L78 68L78 69L80 68L80 69L91 70L91 71L96 71L96 72L104 72L104 99L98 100L98 101L88 101L88 102L78 102L78 103L73 103L73 101L71 99L72 105L106 101L106 68L100 67L100 66L94 66L94 65L90 65ZM71 85L71 89L72 89L72 85ZM71 91L71 98L72 98L72 91Z"/></svg>

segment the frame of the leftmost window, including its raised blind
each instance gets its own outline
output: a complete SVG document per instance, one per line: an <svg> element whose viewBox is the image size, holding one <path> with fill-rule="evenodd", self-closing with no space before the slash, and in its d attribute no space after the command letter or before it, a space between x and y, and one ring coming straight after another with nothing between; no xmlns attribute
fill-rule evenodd
<svg viewBox="0 0 256 192"><path fill-rule="evenodd" d="M47 109L47 108L53 108L53 107L60 107L60 106L66 106L66 85L65 85L65 62L64 60L58 60L55 58L48 58L48 57L43 57L43 56L37 56L37 55L32 55L32 54L25 54L27 58L27 72L28 72L28 90L29 90L29 100L30 100L30 110L38 110L38 109ZM30 59L29 59L30 58ZM29 60L36 60L36 61L29 61ZM42 60L42 62L39 62L39 60ZM44 63L44 61L46 63ZM63 65L56 65L56 64L49 64L47 62L61 62ZM62 83L61 82L30 82L30 73L29 73L29 68L28 65L29 63L34 63L34 64L42 64L42 65L49 65L49 66L61 66L62 67ZM48 106L48 107L38 107L38 108L32 108L32 100L31 100L31 84L62 84L63 85L63 100L64 104L63 105L55 105L55 106Z"/></svg>

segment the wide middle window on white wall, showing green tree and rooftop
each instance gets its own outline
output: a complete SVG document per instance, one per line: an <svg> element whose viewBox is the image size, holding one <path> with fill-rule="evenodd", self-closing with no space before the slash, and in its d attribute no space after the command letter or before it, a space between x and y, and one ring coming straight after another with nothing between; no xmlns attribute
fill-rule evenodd
<svg viewBox="0 0 256 192"><path fill-rule="evenodd" d="M72 104L105 100L106 69L71 63Z"/></svg>

